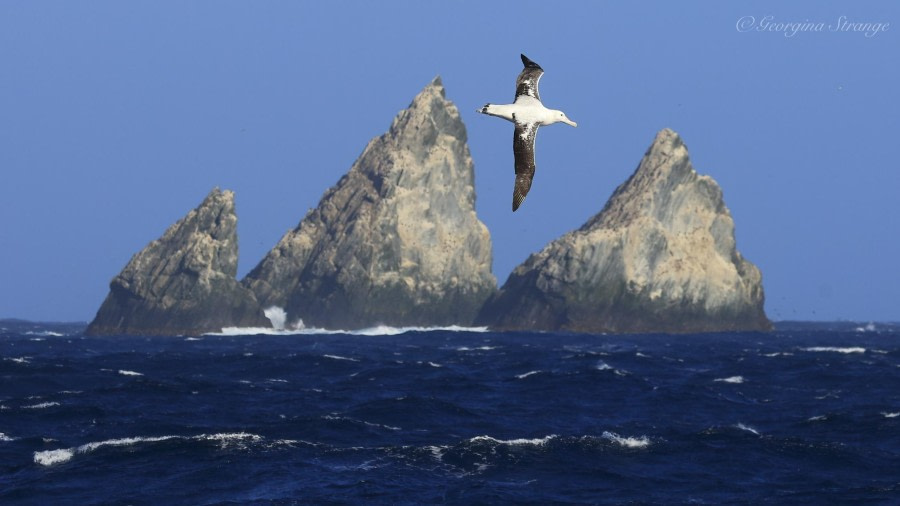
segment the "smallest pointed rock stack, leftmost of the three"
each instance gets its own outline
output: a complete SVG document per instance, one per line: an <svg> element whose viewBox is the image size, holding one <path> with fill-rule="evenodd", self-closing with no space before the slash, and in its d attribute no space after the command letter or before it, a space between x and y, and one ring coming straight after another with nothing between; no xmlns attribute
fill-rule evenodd
<svg viewBox="0 0 900 506"><path fill-rule="evenodd" d="M214 189L199 207L131 258L88 326L91 335L174 335L269 326L237 275L234 194Z"/></svg>

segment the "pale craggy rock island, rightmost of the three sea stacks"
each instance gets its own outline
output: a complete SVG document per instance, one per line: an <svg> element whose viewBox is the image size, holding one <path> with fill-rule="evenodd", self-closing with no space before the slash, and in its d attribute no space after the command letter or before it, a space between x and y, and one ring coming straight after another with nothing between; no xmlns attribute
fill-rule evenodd
<svg viewBox="0 0 900 506"><path fill-rule="evenodd" d="M737 251L722 191L673 131L580 229L531 255L482 309L495 328L768 330L759 269Z"/></svg>

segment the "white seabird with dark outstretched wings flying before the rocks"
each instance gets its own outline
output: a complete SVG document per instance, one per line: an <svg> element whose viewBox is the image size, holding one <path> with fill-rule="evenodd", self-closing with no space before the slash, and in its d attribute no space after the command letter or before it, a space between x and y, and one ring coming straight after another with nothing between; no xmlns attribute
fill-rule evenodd
<svg viewBox="0 0 900 506"><path fill-rule="evenodd" d="M516 125L513 135L513 154L516 158L516 184L513 187L513 211L522 205L525 195L531 189L534 178L534 138L537 129L543 125L565 123L578 126L556 109L547 109L538 95L538 81L544 75L540 65L528 59L524 54L522 63L525 68L516 78L516 100L512 104L485 104L476 112L497 116L512 121Z"/></svg>

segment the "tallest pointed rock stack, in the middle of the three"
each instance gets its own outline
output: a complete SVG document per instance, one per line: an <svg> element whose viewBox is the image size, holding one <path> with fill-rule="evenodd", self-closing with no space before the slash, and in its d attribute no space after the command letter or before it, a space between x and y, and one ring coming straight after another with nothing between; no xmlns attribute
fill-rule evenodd
<svg viewBox="0 0 900 506"><path fill-rule="evenodd" d="M308 325L471 323L496 279L466 129L440 78L243 283Z"/></svg>

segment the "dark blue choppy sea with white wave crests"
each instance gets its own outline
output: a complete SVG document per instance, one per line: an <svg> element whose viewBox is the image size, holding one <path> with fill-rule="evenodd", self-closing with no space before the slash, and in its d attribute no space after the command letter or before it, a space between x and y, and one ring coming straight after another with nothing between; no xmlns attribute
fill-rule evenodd
<svg viewBox="0 0 900 506"><path fill-rule="evenodd" d="M900 325L0 325L0 504L898 504Z"/></svg>

